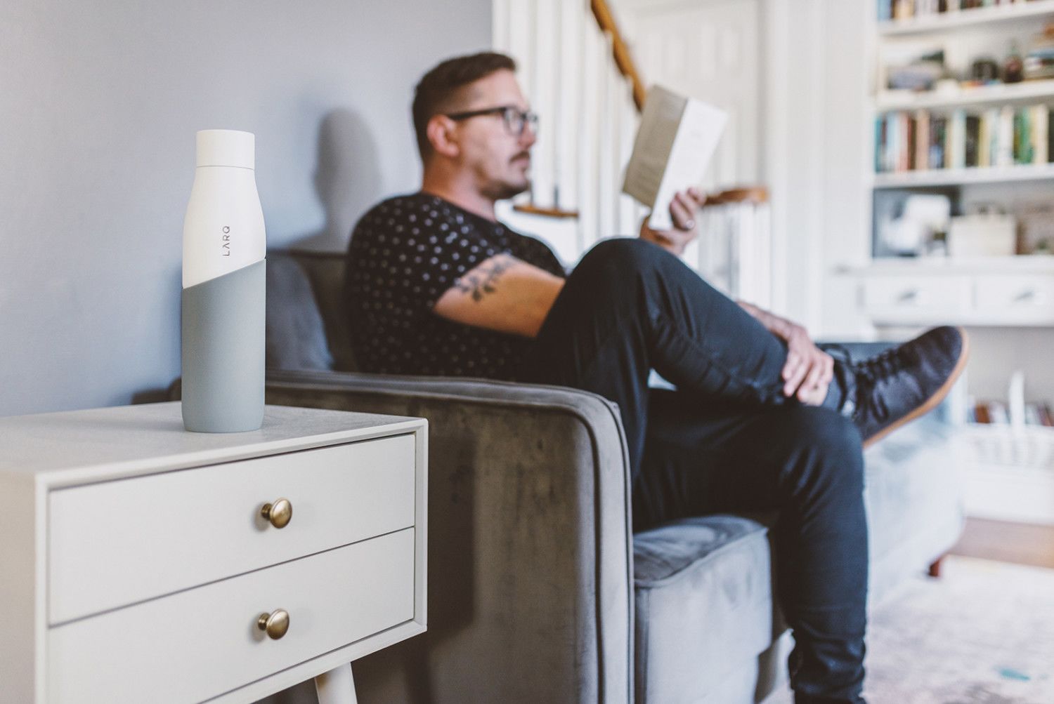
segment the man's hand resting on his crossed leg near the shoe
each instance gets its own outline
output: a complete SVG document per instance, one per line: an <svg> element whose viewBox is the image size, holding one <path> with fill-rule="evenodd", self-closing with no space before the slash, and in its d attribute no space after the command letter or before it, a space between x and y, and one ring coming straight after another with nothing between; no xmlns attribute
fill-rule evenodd
<svg viewBox="0 0 1054 704"><path fill-rule="evenodd" d="M787 361L782 373L783 395L796 397L811 406L823 403L835 376L834 358L817 347L801 325L749 303L741 301L740 306L787 344Z"/></svg>

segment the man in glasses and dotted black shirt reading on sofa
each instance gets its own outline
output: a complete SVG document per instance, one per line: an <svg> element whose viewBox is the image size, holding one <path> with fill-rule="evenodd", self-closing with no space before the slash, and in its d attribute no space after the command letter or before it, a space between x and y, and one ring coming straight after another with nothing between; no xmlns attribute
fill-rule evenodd
<svg viewBox="0 0 1054 704"><path fill-rule="evenodd" d="M860 702L867 535L861 444L921 415L965 362L955 328L836 360L799 325L738 305L678 255L697 236L694 189L675 228L603 241L566 274L497 222L529 185L535 117L511 59L445 61L416 87L417 194L384 201L349 246L348 308L367 371L560 384L619 404L633 527L780 510L780 599L799 703ZM676 391L649 389L658 370Z"/></svg>

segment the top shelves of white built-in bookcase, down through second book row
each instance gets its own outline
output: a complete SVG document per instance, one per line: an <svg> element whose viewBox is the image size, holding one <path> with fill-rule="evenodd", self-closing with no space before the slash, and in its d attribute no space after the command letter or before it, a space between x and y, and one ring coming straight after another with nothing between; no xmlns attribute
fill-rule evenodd
<svg viewBox="0 0 1054 704"><path fill-rule="evenodd" d="M960 4L972 3L877 0L872 114L879 188L1050 177L1054 76L1000 79L1011 46L1023 60L1054 22L1054 0L991 0L983 3L991 6L953 9ZM940 6L945 12L937 12ZM976 80L974 72L981 71L999 76ZM907 87L926 80L933 81L930 89Z"/></svg>

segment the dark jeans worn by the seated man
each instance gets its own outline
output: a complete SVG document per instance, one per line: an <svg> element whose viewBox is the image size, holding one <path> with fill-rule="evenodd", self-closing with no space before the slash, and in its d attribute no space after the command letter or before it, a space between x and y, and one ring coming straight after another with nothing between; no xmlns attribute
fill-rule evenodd
<svg viewBox="0 0 1054 704"><path fill-rule="evenodd" d="M829 407L786 399L785 360L778 338L678 258L613 239L568 277L522 377L619 404L635 530L778 510L776 583L795 637L797 701L859 702L867 590L860 435ZM648 388L652 368L677 390Z"/></svg>

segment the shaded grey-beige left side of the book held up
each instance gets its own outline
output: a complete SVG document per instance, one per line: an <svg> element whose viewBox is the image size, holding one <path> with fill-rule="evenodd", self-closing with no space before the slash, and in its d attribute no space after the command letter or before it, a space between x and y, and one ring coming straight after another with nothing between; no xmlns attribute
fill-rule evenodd
<svg viewBox="0 0 1054 704"><path fill-rule="evenodd" d="M633 152L626 165L622 192L650 206L662 185L663 173L688 101L662 86L648 92Z"/></svg>

